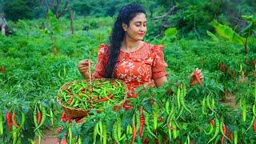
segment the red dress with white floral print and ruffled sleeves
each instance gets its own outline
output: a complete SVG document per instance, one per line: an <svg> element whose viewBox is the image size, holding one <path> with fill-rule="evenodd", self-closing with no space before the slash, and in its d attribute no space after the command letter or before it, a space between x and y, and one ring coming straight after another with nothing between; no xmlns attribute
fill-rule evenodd
<svg viewBox="0 0 256 144"><path fill-rule="evenodd" d="M98 62L93 78L103 78L105 74L107 50L109 46L101 44L98 50ZM138 86L154 86L154 80L167 75L162 45L150 45L144 42L142 47L133 52L120 50L115 78L126 82L128 98L137 98L134 94Z"/></svg>

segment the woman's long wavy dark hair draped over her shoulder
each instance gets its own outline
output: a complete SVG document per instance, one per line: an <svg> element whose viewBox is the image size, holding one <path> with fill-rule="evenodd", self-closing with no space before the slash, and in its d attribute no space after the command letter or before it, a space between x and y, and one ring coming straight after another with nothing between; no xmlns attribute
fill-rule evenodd
<svg viewBox="0 0 256 144"><path fill-rule="evenodd" d="M105 78L114 78L115 66L122 46L122 41L125 37L125 31L122 29L122 22L129 26L130 20L132 20L138 13L146 14L144 8L138 4L128 4L122 6L121 10L119 10L118 17L114 22L112 34L110 35L110 48L106 62Z"/></svg>

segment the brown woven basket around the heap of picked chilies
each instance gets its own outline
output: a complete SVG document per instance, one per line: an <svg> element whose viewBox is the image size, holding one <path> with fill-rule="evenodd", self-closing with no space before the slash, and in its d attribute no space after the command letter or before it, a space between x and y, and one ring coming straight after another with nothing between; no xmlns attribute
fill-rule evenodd
<svg viewBox="0 0 256 144"><path fill-rule="evenodd" d="M101 81L116 81L116 79L108 79L108 78L98 78L98 79L94 79L94 80L101 80ZM94 81L93 80L93 81ZM120 80L118 80L120 81ZM81 81L74 81L74 82L81 82ZM68 88L68 86L70 86L71 84L73 84L74 82L66 82L63 86L60 87L60 89L58 90L58 97L57 97L57 102L59 103L59 105L62 107L62 110L65 111L66 116L69 118L83 118L83 117L87 117L88 115L90 115L91 110L95 110L97 113L102 112L102 110L104 110L104 107L102 107L102 110L98 110L98 109L89 109L89 110L83 110L83 109L77 109L77 108L70 108L67 106L62 105L61 99L60 99L60 94L61 91L63 89ZM83 82L89 82L89 80L83 80ZM126 95L124 97L124 99L119 102L118 104L114 104L113 105L113 110L114 111L118 111L120 109L122 109L124 103L126 102L126 98L127 98L127 86L125 85L125 89L126 89Z"/></svg>

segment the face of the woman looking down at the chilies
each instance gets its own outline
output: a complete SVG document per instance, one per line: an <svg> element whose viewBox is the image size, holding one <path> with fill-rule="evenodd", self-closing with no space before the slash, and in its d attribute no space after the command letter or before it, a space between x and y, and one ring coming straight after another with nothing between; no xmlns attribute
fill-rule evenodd
<svg viewBox="0 0 256 144"><path fill-rule="evenodd" d="M146 15L139 13L130 21L130 26L123 24L122 27L126 31L126 37L141 41L146 35Z"/></svg>

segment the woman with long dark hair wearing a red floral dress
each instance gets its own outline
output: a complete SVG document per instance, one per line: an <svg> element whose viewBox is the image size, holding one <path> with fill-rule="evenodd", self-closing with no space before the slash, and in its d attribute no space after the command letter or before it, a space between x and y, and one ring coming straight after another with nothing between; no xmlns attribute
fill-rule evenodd
<svg viewBox="0 0 256 144"><path fill-rule="evenodd" d="M117 78L126 82L128 98L137 98L134 90L141 85L162 86L167 82L166 62L162 46L144 42L146 35L146 12L138 4L123 6L114 22L110 46L101 45L98 63L92 78ZM90 78L90 61L78 63L84 78ZM196 69L200 78L201 70ZM191 85L198 82L191 75Z"/></svg>

